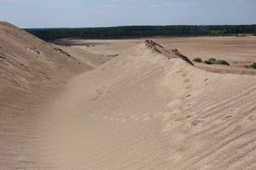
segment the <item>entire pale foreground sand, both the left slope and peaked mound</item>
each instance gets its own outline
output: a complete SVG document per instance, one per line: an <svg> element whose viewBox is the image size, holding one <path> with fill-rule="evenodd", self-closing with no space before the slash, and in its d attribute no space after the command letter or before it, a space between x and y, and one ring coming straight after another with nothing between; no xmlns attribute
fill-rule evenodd
<svg viewBox="0 0 256 170"><path fill-rule="evenodd" d="M0 169L256 168L255 76L153 41L107 61L0 28Z"/></svg>

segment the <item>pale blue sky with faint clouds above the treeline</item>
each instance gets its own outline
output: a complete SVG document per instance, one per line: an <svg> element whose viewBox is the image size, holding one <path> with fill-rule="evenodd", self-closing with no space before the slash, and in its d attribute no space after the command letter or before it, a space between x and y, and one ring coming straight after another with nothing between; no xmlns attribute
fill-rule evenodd
<svg viewBox="0 0 256 170"><path fill-rule="evenodd" d="M20 28L256 24L256 0L0 0Z"/></svg>

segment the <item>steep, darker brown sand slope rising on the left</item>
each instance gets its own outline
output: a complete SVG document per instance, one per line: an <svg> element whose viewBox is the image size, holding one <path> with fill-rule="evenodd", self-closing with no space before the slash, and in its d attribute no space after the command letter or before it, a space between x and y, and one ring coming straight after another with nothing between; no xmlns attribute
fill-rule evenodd
<svg viewBox="0 0 256 170"><path fill-rule="evenodd" d="M60 48L0 22L0 169L33 163L38 116L59 100L69 79L107 61Z"/></svg>

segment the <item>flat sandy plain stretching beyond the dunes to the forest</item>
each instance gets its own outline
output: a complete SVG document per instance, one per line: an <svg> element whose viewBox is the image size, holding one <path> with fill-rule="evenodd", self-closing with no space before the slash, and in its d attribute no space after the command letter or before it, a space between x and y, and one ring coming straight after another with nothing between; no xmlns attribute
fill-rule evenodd
<svg viewBox="0 0 256 170"><path fill-rule="evenodd" d="M256 37L189 37L189 38L148 38L161 44L166 49L176 48L180 53L193 60L216 58L227 60L230 66L207 65L196 63L195 66L216 73L234 73L256 75L256 69L245 68L256 62ZM72 44L91 53L100 55L120 54L132 46L144 41L143 39L78 39L61 40L51 43ZM89 45L87 47L86 45ZM92 46L94 45L94 47ZM73 46L74 47L74 46Z"/></svg>

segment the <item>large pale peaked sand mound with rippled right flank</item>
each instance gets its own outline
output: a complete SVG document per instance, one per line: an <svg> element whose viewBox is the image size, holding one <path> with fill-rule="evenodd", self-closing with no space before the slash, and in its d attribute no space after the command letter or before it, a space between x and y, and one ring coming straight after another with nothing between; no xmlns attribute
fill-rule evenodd
<svg viewBox="0 0 256 170"><path fill-rule="evenodd" d="M58 103L69 115L65 130L52 139L65 144L61 152L76 151L64 167L255 167L255 77L210 73L168 58L141 43L73 81L71 102Z"/></svg>

